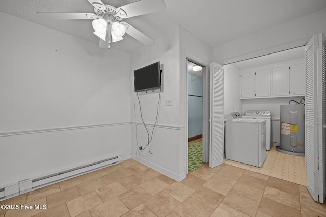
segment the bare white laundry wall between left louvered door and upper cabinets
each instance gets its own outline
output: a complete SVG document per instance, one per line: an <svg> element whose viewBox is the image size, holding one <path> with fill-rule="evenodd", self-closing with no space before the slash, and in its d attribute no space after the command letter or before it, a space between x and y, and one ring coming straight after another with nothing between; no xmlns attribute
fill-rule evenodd
<svg viewBox="0 0 326 217"><path fill-rule="evenodd" d="M229 112L242 111L240 71L232 64L224 65L224 118Z"/></svg>

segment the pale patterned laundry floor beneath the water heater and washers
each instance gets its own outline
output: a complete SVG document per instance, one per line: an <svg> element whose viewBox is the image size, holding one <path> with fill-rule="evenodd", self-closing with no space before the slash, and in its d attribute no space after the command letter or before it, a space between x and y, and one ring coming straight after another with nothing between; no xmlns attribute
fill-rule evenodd
<svg viewBox="0 0 326 217"><path fill-rule="evenodd" d="M275 146L271 146L270 151L267 151L266 160L261 168L228 159L224 159L224 163L297 184L307 185L305 156L285 154L277 151Z"/></svg>

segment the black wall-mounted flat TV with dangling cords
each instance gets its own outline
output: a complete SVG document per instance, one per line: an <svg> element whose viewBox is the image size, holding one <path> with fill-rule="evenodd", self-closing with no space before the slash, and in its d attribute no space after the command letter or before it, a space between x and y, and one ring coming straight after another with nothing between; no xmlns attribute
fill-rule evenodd
<svg viewBox="0 0 326 217"><path fill-rule="evenodd" d="M161 86L159 62L133 71L134 92L158 89Z"/></svg>

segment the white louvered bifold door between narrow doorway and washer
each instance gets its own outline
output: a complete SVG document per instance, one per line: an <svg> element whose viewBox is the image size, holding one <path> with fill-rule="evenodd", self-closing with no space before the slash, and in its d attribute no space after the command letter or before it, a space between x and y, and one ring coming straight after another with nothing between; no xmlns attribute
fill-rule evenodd
<svg viewBox="0 0 326 217"><path fill-rule="evenodd" d="M223 69L217 63L210 64L210 141L209 167L223 164L224 148Z"/></svg>

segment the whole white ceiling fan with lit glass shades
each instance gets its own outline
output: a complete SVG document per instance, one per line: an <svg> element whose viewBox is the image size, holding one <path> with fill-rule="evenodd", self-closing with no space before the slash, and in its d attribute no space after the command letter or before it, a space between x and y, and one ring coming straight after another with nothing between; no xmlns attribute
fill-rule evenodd
<svg viewBox="0 0 326 217"><path fill-rule="evenodd" d="M148 36L135 29L123 19L158 12L165 9L164 0L139 0L118 8L104 4L101 0L88 0L94 13L37 12L47 19L92 19L94 34L100 38L100 48L110 48L110 43L122 40L127 33L147 46L154 44Z"/></svg>

